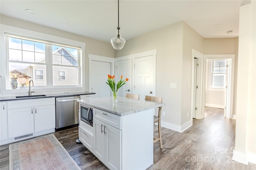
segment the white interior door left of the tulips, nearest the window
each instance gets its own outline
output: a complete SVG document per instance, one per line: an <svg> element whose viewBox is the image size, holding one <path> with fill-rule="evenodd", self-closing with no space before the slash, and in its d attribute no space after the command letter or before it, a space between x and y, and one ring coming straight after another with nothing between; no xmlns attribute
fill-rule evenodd
<svg viewBox="0 0 256 170"><path fill-rule="evenodd" d="M90 91L96 93L96 97L109 97L110 88L106 84L108 74L111 74L111 63L103 61L91 61L90 63Z"/></svg>

